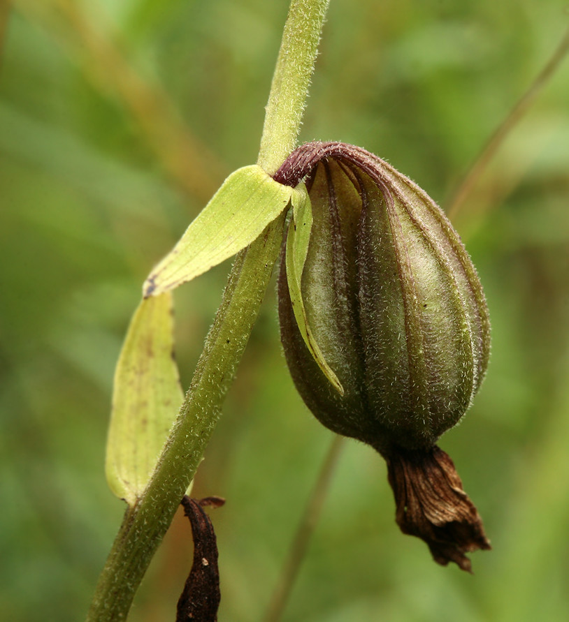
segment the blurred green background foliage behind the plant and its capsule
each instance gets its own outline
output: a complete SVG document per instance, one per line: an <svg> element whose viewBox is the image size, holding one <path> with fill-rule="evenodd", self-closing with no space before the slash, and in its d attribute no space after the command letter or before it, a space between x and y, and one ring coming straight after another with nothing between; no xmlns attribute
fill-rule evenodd
<svg viewBox="0 0 569 622"><path fill-rule="evenodd" d="M150 267L257 157L288 2L1 6L0 611L75 621L124 509L103 475L122 337ZM444 206L568 22L566 0L331 0L301 138L366 147ZM494 550L474 576L435 565L350 442L286 621L569 619L568 82L569 61L455 219L494 342L440 444ZM228 269L176 293L185 386ZM273 287L194 489L227 499L221 621L261 619L330 440L287 374ZM175 618L191 556L178 515L132 621Z"/></svg>

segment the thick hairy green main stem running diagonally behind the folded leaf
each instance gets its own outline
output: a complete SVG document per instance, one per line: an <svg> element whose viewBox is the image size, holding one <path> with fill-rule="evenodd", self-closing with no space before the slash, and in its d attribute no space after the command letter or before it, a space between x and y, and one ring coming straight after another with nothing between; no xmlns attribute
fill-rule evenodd
<svg viewBox="0 0 569 622"><path fill-rule="evenodd" d="M278 168L296 142L327 6L328 0L291 2L259 152L258 162L268 172ZM136 589L219 419L278 257L284 223L283 214L236 258L180 415L145 493L124 515L88 622L127 618Z"/></svg>

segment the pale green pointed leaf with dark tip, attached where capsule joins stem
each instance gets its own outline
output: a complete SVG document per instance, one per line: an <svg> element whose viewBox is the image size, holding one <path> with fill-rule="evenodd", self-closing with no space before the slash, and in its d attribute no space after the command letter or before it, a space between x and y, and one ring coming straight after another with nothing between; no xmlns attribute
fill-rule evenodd
<svg viewBox="0 0 569 622"><path fill-rule="evenodd" d="M191 281L244 249L287 207L292 192L258 165L231 173L173 251L152 270L144 296Z"/></svg>

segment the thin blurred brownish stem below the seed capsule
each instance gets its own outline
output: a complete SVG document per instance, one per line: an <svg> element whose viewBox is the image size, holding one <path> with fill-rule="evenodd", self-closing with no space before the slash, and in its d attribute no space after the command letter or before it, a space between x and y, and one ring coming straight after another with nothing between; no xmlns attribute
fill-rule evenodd
<svg viewBox="0 0 569 622"><path fill-rule="evenodd" d="M289 549L289 556L282 568L277 587L268 605L265 622L278 622L285 612L287 600L294 586L294 581L298 576L298 571L301 568L310 538L312 533L314 533L320 514L322 514L324 501L326 501L334 469L336 464L338 464L345 440L344 436L334 436L329 450L326 456L324 456L314 489L312 489L303 517L298 524L298 528L296 528L294 540Z"/></svg>

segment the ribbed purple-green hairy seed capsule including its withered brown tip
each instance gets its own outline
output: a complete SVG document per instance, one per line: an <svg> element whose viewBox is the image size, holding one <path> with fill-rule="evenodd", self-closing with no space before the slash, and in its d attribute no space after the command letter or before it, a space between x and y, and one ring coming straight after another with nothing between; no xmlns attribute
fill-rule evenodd
<svg viewBox="0 0 569 622"><path fill-rule="evenodd" d="M465 553L489 541L435 445L470 406L488 364L488 310L468 253L419 186L359 147L308 143L275 179L308 188L305 318L343 394L298 328L283 260L281 339L296 388L322 424L386 459L401 530L425 540L438 563L470 570Z"/></svg>

